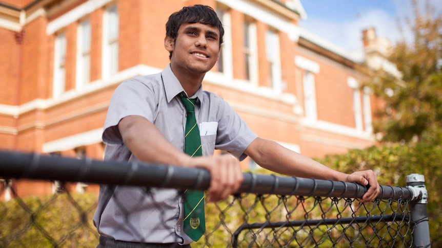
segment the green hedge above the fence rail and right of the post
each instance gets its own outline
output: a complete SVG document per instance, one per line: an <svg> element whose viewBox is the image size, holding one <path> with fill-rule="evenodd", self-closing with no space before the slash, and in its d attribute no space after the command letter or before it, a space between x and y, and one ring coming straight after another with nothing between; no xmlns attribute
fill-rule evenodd
<svg viewBox="0 0 442 248"><path fill-rule="evenodd" d="M333 169L351 173L357 170L373 169L378 173L380 185L405 187L406 176L418 173L425 176L428 191L428 219L430 238L434 247L442 247L442 146L428 143L415 145L390 144L351 150L342 155L329 155L318 160Z"/></svg>

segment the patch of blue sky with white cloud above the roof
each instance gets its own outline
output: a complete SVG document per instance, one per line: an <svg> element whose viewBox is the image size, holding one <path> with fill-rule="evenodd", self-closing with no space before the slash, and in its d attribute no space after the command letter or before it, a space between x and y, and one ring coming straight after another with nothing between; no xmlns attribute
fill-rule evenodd
<svg viewBox="0 0 442 248"><path fill-rule="evenodd" d="M411 15L410 0L300 0L307 13L307 19L300 21L306 29L339 47L352 52L362 49L361 32L375 28L378 37L387 37L393 44L409 39L398 29L398 22ZM418 0L424 10L424 0ZM442 0L429 0L440 13Z"/></svg>

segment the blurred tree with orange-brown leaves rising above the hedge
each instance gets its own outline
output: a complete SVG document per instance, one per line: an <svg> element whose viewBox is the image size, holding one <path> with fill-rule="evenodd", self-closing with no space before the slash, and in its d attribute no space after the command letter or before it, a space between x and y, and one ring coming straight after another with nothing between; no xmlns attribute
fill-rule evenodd
<svg viewBox="0 0 442 248"><path fill-rule="evenodd" d="M442 15L426 2L421 12L411 1L413 18L406 19L413 40L395 44L388 60L401 78L383 70L371 71L363 86L386 104L377 113L374 131L383 141L409 142L432 139L442 142ZM400 27L401 30L403 30ZM404 32L403 32L404 33ZM367 72L367 71L366 71Z"/></svg>

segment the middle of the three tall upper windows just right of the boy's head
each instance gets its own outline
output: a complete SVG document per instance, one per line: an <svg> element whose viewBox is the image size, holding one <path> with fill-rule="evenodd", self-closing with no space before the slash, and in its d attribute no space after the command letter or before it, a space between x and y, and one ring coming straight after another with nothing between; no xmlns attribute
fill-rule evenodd
<svg viewBox="0 0 442 248"><path fill-rule="evenodd" d="M246 20L244 22L244 59L246 61L246 79L251 83L258 83L258 61L256 46L256 26Z"/></svg>

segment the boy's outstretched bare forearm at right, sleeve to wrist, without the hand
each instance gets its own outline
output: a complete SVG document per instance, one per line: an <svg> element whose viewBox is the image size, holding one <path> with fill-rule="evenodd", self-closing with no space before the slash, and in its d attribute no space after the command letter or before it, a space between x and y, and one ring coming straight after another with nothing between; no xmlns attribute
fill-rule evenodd
<svg viewBox="0 0 442 248"><path fill-rule="evenodd" d="M285 175L333 181L345 181L348 176L276 142L260 138L252 142L246 154L261 167Z"/></svg>

